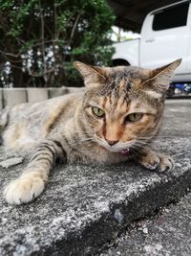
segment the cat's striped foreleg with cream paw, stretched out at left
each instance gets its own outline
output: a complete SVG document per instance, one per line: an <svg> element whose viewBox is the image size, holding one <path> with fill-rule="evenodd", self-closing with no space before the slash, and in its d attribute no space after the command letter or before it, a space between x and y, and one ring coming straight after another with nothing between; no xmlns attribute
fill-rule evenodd
<svg viewBox="0 0 191 256"><path fill-rule="evenodd" d="M43 192L53 163L59 155L66 157L60 142L43 141L33 152L22 175L5 188L6 200L11 204L21 204L37 198Z"/></svg>

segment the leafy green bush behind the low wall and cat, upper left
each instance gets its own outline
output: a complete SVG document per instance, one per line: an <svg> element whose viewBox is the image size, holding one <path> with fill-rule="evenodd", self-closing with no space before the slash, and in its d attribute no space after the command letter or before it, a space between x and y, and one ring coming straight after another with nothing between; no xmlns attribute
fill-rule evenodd
<svg viewBox="0 0 191 256"><path fill-rule="evenodd" d="M114 20L106 0L1 0L0 53L32 81L74 86L74 60L110 64Z"/></svg>

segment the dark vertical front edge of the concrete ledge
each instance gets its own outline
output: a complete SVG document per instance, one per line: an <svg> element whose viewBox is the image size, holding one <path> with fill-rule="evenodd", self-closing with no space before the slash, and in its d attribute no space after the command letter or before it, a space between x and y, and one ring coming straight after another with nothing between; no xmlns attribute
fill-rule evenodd
<svg viewBox="0 0 191 256"><path fill-rule="evenodd" d="M191 168L180 176L162 177L155 186L132 195L120 203L110 205L96 221L90 223L81 233L70 233L67 240L56 241L52 247L41 248L33 252L42 255L97 255L107 248L117 236L128 229L134 221L152 216L160 208L171 202L178 201L191 189ZM55 250L56 248L56 250Z"/></svg>

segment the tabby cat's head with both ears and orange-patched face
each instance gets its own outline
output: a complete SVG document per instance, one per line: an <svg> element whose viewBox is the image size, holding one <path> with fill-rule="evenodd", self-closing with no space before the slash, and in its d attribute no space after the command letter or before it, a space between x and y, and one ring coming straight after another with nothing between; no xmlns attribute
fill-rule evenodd
<svg viewBox="0 0 191 256"><path fill-rule="evenodd" d="M83 108L96 142L108 151L139 149L159 130L165 93L178 59L154 70L95 67L79 61L87 91Z"/></svg>

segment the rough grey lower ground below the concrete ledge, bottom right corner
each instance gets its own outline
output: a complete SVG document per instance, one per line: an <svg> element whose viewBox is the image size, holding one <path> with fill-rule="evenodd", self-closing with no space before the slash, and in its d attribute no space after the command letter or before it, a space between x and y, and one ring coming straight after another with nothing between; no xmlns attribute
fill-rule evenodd
<svg viewBox="0 0 191 256"><path fill-rule="evenodd" d="M100 256L190 256L191 194L152 220L138 221Z"/></svg>

